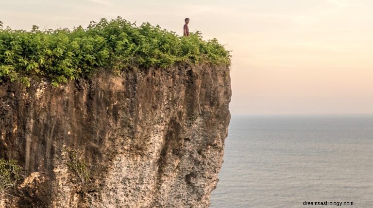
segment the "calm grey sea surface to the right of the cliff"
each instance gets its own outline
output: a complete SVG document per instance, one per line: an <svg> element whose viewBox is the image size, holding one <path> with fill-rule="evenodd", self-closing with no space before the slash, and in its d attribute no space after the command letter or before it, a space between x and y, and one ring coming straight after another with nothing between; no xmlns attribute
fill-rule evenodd
<svg viewBox="0 0 373 208"><path fill-rule="evenodd" d="M373 208L373 116L237 117L211 208Z"/></svg>

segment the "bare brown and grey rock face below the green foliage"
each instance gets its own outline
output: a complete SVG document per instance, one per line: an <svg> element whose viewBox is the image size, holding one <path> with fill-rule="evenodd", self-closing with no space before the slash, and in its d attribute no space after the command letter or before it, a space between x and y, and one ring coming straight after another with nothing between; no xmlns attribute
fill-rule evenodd
<svg viewBox="0 0 373 208"><path fill-rule="evenodd" d="M25 179L0 207L208 207L230 120L229 67L179 65L30 88L0 84L0 158ZM86 160L82 184L66 148Z"/></svg>

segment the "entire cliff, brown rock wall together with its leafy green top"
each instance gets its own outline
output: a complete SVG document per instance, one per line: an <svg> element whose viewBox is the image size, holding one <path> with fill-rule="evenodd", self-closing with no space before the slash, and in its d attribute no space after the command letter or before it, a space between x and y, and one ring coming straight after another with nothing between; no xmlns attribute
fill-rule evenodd
<svg viewBox="0 0 373 208"><path fill-rule="evenodd" d="M0 21L0 207L204 208L230 120L230 54L127 20Z"/></svg>

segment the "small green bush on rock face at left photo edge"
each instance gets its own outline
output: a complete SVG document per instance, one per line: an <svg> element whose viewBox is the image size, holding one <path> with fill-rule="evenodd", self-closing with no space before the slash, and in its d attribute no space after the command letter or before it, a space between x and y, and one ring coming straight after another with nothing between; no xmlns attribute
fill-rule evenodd
<svg viewBox="0 0 373 208"><path fill-rule="evenodd" d="M0 159L0 195L16 187L21 178L21 170L17 160Z"/></svg>

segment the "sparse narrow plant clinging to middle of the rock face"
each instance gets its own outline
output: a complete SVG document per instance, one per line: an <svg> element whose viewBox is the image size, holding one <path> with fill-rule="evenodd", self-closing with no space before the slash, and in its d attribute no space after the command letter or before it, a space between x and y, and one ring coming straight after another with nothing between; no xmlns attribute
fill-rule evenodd
<svg viewBox="0 0 373 208"><path fill-rule="evenodd" d="M87 170L85 158L79 157L78 155L82 154L76 149L65 148L65 152L68 154L68 168L79 177L84 185L89 180L89 171Z"/></svg>

